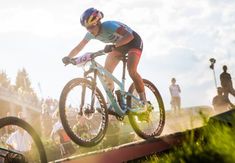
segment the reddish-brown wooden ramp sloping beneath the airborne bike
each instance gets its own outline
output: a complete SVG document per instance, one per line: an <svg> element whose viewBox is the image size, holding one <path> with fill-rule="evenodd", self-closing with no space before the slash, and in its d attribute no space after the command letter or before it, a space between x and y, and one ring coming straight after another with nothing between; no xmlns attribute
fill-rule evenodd
<svg viewBox="0 0 235 163"><path fill-rule="evenodd" d="M194 129L197 132L200 128ZM142 140L105 150L90 152L77 156L53 161L55 163L120 163L148 156L154 153L161 153L180 145L185 139L187 132L179 132L161 136L151 140Z"/></svg>

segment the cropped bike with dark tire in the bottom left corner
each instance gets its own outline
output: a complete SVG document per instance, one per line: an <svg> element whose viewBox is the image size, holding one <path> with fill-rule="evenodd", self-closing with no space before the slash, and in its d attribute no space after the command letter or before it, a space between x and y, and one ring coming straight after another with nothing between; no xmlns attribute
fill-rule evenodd
<svg viewBox="0 0 235 163"><path fill-rule="evenodd" d="M32 128L30 124L25 122L22 119L19 119L17 117L5 117L0 119L0 128L3 128L5 126L14 125L18 126L20 128L23 128L25 131L28 132L28 134L32 137L39 153L39 159L41 163L47 163L47 156L45 149L43 147L43 144L41 142L40 137L36 133L36 131ZM5 149L3 147L0 147L0 162L28 162L28 160L25 158L25 156L15 150ZM36 162L39 162L37 160Z"/></svg>

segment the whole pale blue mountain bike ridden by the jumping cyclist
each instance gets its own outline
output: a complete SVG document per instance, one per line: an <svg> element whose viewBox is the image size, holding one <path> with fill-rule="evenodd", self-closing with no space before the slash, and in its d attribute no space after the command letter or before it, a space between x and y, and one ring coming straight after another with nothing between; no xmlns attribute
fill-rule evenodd
<svg viewBox="0 0 235 163"><path fill-rule="evenodd" d="M139 114L143 105L134 83L125 91L127 56L121 59L123 71L120 81L95 61L96 57L102 55L105 55L104 50L85 53L70 60L71 64L83 67L84 74L83 78L70 80L60 95L59 113L68 136L81 146L97 145L107 130L108 115L113 115L120 121L128 116L132 128L143 139L160 135L165 124L165 110L158 89L153 83L143 79L148 108L146 112ZM115 93L109 90L106 77L117 85ZM103 86L110 108L107 107L99 85Z"/></svg>

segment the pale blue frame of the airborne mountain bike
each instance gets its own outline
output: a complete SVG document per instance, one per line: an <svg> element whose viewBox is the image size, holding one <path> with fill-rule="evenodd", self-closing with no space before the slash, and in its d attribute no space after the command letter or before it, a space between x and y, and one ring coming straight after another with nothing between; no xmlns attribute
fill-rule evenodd
<svg viewBox="0 0 235 163"><path fill-rule="evenodd" d="M105 55L105 53L101 53L100 55ZM126 75L126 57L122 59L123 61L123 72L122 72L122 81L118 80L112 73L108 72L103 66L101 66L98 62L95 61L95 59L92 59L90 69L88 71L85 71L84 77L86 77L89 73L94 72L94 78L93 78L93 86L96 87L96 76L98 76L101 85L103 86L109 101L111 102L111 105L114 108L115 113L117 113L119 116L126 115L127 111L135 112L138 109L131 109L127 107L127 100L126 97L131 96L136 101L140 101L139 98L135 97L129 92L125 91L125 75ZM88 72L88 73L87 73ZM110 89L108 88L107 83L105 82L105 77L108 77L112 79L112 81L119 87L120 93L121 93L121 100L122 100L122 106L120 106L112 93ZM95 88L92 90L93 92ZM91 105L94 104L94 98L92 98Z"/></svg>

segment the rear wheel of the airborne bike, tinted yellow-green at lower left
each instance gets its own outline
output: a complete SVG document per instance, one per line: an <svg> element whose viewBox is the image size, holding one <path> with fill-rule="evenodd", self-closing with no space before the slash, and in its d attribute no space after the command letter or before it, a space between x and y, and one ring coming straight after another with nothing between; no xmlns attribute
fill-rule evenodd
<svg viewBox="0 0 235 163"><path fill-rule="evenodd" d="M129 121L134 131L143 139L158 136L162 133L165 124L165 109L162 97L153 83L143 79L145 94L148 101L148 109L146 112L136 115L130 111L128 114ZM129 93L138 97L134 83L130 86ZM127 97L127 105L129 108L140 107L140 102L131 96Z"/></svg>

